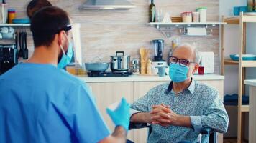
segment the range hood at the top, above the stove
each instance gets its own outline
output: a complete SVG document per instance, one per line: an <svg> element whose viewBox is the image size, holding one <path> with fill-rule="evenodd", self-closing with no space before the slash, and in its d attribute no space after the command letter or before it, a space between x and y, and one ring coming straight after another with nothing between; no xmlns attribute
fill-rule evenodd
<svg viewBox="0 0 256 143"><path fill-rule="evenodd" d="M84 10L127 10L134 8L132 3L126 0L87 0L79 9Z"/></svg>

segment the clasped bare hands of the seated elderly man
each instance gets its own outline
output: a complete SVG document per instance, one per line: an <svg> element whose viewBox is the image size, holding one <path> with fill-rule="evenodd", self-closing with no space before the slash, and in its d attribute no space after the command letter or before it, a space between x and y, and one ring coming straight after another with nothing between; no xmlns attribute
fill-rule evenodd
<svg viewBox="0 0 256 143"><path fill-rule="evenodd" d="M174 124L178 118L178 115L165 104L152 106L152 111L150 114L152 115L152 124L160 124L164 127Z"/></svg>

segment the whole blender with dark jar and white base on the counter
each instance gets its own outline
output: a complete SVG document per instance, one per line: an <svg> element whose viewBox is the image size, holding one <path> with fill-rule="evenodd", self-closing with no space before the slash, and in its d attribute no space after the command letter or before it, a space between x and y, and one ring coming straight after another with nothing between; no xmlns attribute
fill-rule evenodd
<svg viewBox="0 0 256 143"><path fill-rule="evenodd" d="M163 60L163 49L165 41L163 39L155 39L152 41L154 49L154 60L152 61L152 74L157 75L158 69L162 66L168 67L168 64ZM165 74L169 73L169 69L166 68Z"/></svg>

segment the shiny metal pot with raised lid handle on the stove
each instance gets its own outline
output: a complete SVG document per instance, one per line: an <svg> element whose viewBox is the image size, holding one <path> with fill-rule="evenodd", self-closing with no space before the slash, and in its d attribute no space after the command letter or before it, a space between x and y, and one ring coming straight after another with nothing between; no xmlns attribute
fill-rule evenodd
<svg viewBox="0 0 256 143"><path fill-rule="evenodd" d="M130 56L124 54L124 51L116 51L116 56L111 56L111 71L128 71Z"/></svg>

